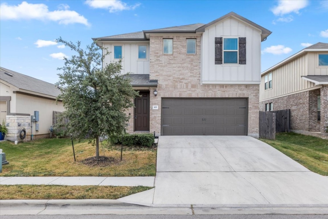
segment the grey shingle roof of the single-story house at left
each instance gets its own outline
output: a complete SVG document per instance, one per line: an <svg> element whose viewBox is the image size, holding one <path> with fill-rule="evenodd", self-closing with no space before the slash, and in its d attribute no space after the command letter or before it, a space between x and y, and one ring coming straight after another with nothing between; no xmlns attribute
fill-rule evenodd
<svg viewBox="0 0 328 219"><path fill-rule="evenodd" d="M60 90L54 84L2 67L0 67L0 79L14 85L15 87L18 87L19 89L50 95L53 97L57 97L60 94Z"/></svg>

